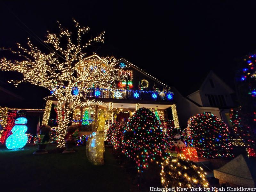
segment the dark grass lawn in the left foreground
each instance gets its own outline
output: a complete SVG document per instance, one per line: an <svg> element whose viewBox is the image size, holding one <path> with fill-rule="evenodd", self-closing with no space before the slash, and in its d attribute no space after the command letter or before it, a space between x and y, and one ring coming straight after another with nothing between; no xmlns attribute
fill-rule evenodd
<svg viewBox="0 0 256 192"><path fill-rule="evenodd" d="M1 191L130 191L131 181L108 148L103 166L88 162L85 146L75 147L73 154L38 156L33 155L36 148L0 150Z"/></svg>

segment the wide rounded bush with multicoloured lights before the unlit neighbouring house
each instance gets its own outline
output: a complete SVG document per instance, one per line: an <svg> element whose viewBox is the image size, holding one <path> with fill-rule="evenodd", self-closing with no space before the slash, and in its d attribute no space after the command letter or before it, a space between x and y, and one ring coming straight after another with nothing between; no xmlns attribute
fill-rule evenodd
<svg viewBox="0 0 256 192"><path fill-rule="evenodd" d="M198 156L218 158L232 156L228 126L211 113L201 113L188 120L190 145L197 150Z"/></svg>

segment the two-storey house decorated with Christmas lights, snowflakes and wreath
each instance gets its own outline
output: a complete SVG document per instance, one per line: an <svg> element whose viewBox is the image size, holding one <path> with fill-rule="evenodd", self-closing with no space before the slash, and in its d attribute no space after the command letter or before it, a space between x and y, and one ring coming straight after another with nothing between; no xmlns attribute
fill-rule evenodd
<svg viewBox="0 0 256 192"><path fill-rule="evenodd" d="M92 55L87 57L84 62L91 62L94 59L100 60L100 57ZM90 125L96 122L101 109L105 111L108 126L109 122L114 120L126 124L129 117L138 108L145 107L157 112L159 120L173 120L174 126L179 127L175 95L166 84L127 60L117 60L116 67L119 68L119 72L125 76L125 79L116 81L116 87L110 89L92 85L88 88L86 97L100 101L100 104L93 108L76 106L73 110L72 124L81 125L80 132L90 134L93 129L93 126ZM83 70L82 66L81 70ZM72 92L76 95L78 90L74 88ZM49 97L46 102L42 124L47 124L52 104L58 105L58 100L54 95Z"/></svg>

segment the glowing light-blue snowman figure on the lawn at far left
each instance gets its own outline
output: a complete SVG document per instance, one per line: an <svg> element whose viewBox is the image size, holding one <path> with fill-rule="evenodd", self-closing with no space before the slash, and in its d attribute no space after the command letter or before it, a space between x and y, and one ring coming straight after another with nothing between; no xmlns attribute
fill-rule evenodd
<svg viewBox="0 0 256 192"><path fill-rule="evenodd" d="M12 127L12 134L7 138L5 145L8 149L23 148L28 142L26 131L28 120L25 117L19 117L15 120L15 125Z"/></svg>

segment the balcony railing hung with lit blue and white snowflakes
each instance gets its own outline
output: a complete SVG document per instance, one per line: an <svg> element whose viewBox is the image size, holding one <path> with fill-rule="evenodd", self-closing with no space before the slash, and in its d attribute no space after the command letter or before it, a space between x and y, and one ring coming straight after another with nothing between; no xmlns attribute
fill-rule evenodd
<svg viewBox="0 0 256 192"><path fill-rule="evenodd" d="M172 101L173 92L155 92L155 91L140 91L140 90L108 90L89 88L87 97L102 98L102 99L119 99L119 100L153 100L153 101Z"/></svg>

